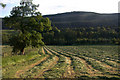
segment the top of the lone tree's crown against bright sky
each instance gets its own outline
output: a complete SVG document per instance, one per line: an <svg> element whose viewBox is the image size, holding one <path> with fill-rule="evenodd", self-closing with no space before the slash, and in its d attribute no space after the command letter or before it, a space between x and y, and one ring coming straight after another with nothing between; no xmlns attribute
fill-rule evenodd
<svg viewBox="0 0 120 80"><path fill-rule="evenodd" d="M39 5L35 5L31 1L21 0L20 5L21 6L15 6L11 11L11 16L36 16L40 15L40 12L36 12L37 7Z"/></svg>

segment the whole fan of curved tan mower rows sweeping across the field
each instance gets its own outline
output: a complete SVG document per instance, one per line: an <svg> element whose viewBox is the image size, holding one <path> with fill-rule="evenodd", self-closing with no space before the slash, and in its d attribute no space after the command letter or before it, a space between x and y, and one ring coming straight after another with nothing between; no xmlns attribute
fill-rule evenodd
<svg viewBox="0 0 120 80"><path fill-rule="evenodd" d="M64 70L63 72L60 73L61 74L60 78L75 78L77 76L118 77L117 68L112 67L105 62L99 61L91 57L79 56L74 53L64 51L62 49L55 49L49 47L43 47L42 53L46 56L40 59L39 61L31 65L28 65L21 70L18 70L15 73L15 78L21 78L21 75L29 75L30 73L29 71L34 70L35 67L38 67L37 68L38 71L30 73L32 75L32 77L30 76L31 78L47 78L45 77L44 74L49 73L49 70L52 70L54 73L56 68L59 69L58 71ZM94 63L97 63L101 68L103 68L103 70L104 69L105 70L102 71L98 69L96 66L93 66ZM60 64L61 67L62 66L64 67L60 69L59 67L57 67L58 64ZM50 75L48 74L48 76Z"/></svg>

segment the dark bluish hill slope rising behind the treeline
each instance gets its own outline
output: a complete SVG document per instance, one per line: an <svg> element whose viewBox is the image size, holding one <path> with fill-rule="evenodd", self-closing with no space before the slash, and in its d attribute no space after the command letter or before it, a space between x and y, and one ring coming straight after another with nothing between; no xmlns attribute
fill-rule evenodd
<svg viewBox="0 0 120 80"><path fill-rule="evenodd" d="M45 15L58 28L63 27L96 27L117 26L118 14L99 14L94 12L67 12L55 15Z"/></svg>

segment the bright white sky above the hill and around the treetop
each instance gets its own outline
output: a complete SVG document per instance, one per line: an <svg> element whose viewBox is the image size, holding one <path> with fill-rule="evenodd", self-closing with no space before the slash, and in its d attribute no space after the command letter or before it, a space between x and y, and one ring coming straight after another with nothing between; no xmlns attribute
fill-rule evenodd
<svg viewBox="0 0 120 80"><path fill-rule="evenodd" d="M90 11L97 13L118 13L120 0L33 0L39 4L38 10L42 15L56 14L71 11ZM8 16L12 7L18 6L20 0L0 0L7 4L3 9L0 6L0 17Z"/></svg>

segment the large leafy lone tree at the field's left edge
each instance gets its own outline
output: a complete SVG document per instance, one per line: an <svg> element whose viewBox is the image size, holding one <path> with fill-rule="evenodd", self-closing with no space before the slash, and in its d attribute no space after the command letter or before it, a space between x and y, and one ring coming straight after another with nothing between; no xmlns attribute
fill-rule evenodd
<svg viewBox="0 0 120 80"><path fill-rule="evenodd" d="M11 15L5 18L6 26L16 30L18 34L10 39L13 52L24 54L28 46L44 46L42 34L52 30L49 18L43 18L37 11L39 5L32 0L21 0L20 6L13 7Z"/></svg>

